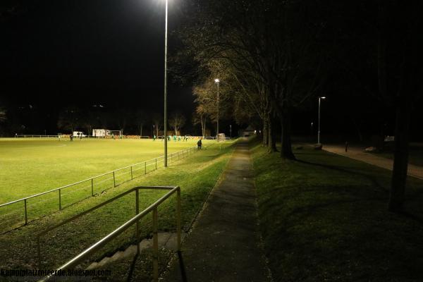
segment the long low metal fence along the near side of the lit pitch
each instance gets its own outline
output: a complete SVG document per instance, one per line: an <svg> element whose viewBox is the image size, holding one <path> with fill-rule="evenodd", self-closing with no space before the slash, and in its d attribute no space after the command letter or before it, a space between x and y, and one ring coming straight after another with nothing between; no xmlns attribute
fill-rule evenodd
<svg viewBox="0 0 423 282"><path fill-rule="evenodd" d="M212 145L213 143L209 144ZM168 164L188 157L197 151L197 147L189 147L168 154ZM65 209L72 204L89 197L94 197L94 195L98 195L105 190L115 188L118 185L144 176L162 167L164 167L164 156L118 168L114 171L102 173L99 176L87 178L19 200L0 204L0 219L3 229L0 230L0 234L24 226L30 221Z"/></svg>

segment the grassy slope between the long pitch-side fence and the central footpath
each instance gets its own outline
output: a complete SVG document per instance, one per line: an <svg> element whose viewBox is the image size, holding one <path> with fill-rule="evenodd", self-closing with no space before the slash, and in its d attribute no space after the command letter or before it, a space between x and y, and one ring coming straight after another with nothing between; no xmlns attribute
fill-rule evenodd
<svg viewBox="0 0 423 282"><path fill-rule="evenodd" d="M62 212L51 214L16 231L0 235L0 249L2 250L0 252L0 268L37 268L36 235L39 232L47 226L68 219L74 214L137 185L179 185L183 226L188 228L231 157L232 145L233 142L225 142L221 146L212 145L191 157L171 164L166 169L153 171L143 178L107 190L97 197L91 197ZM148 207L164 193L148 190L140 192L140 210ZM175 205L176 201L172 197L159 207L159 231L175 230ZM134 215L135 195L127 195L87 216L82 216L80 219L51 231L42 238L42 262L39 266L43 269L54 269L60 266ZM142 237L148 237L151 234L151 216L147 216L141 226ZM112 243L106 245L104 250L94 254L90 262L100 259L104 255L111 255L116 250L133 243L135 240L134 228L128 229ZM87 264L82 266L87 266Z"/></svg>

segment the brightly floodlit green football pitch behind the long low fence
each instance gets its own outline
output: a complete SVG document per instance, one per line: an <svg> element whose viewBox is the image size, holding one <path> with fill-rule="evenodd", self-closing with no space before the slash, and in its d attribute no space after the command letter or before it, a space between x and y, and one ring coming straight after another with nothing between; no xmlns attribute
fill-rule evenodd
<svg viewBox="0 0 423 282"><path fill-rule="evenodd" d="M210 141L202 140L207 146ZM168 142L168 154L197 140ZM85 180L164 154L162 140L0 139L0 204Z"/></svg>

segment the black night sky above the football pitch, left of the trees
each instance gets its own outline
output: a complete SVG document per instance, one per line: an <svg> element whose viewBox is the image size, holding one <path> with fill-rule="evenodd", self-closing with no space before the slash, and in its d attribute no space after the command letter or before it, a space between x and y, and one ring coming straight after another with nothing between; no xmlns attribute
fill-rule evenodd
<svg viewBox="0 0 423 282"><path fill-rule="evenodd" d="M0 25L4 104L45 112L41 120L49 128L71 104L162 113L164 1L27 1L17 7ZM178 13L177 1L170 1L169 32ZM190 87L170 77L168 97L169 111L190 114Z"/></svg>

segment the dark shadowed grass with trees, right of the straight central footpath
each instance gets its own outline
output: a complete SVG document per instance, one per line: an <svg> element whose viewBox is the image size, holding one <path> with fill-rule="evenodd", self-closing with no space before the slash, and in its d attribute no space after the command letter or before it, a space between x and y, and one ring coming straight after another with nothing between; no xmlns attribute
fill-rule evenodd
<svg viewBox="0 0 423 282"><path fill-rule="evenodd" d="M275 281L422 281L423 182L387 212L391 173L308 147L284 161L252 147L259 218Z"/></svg>

